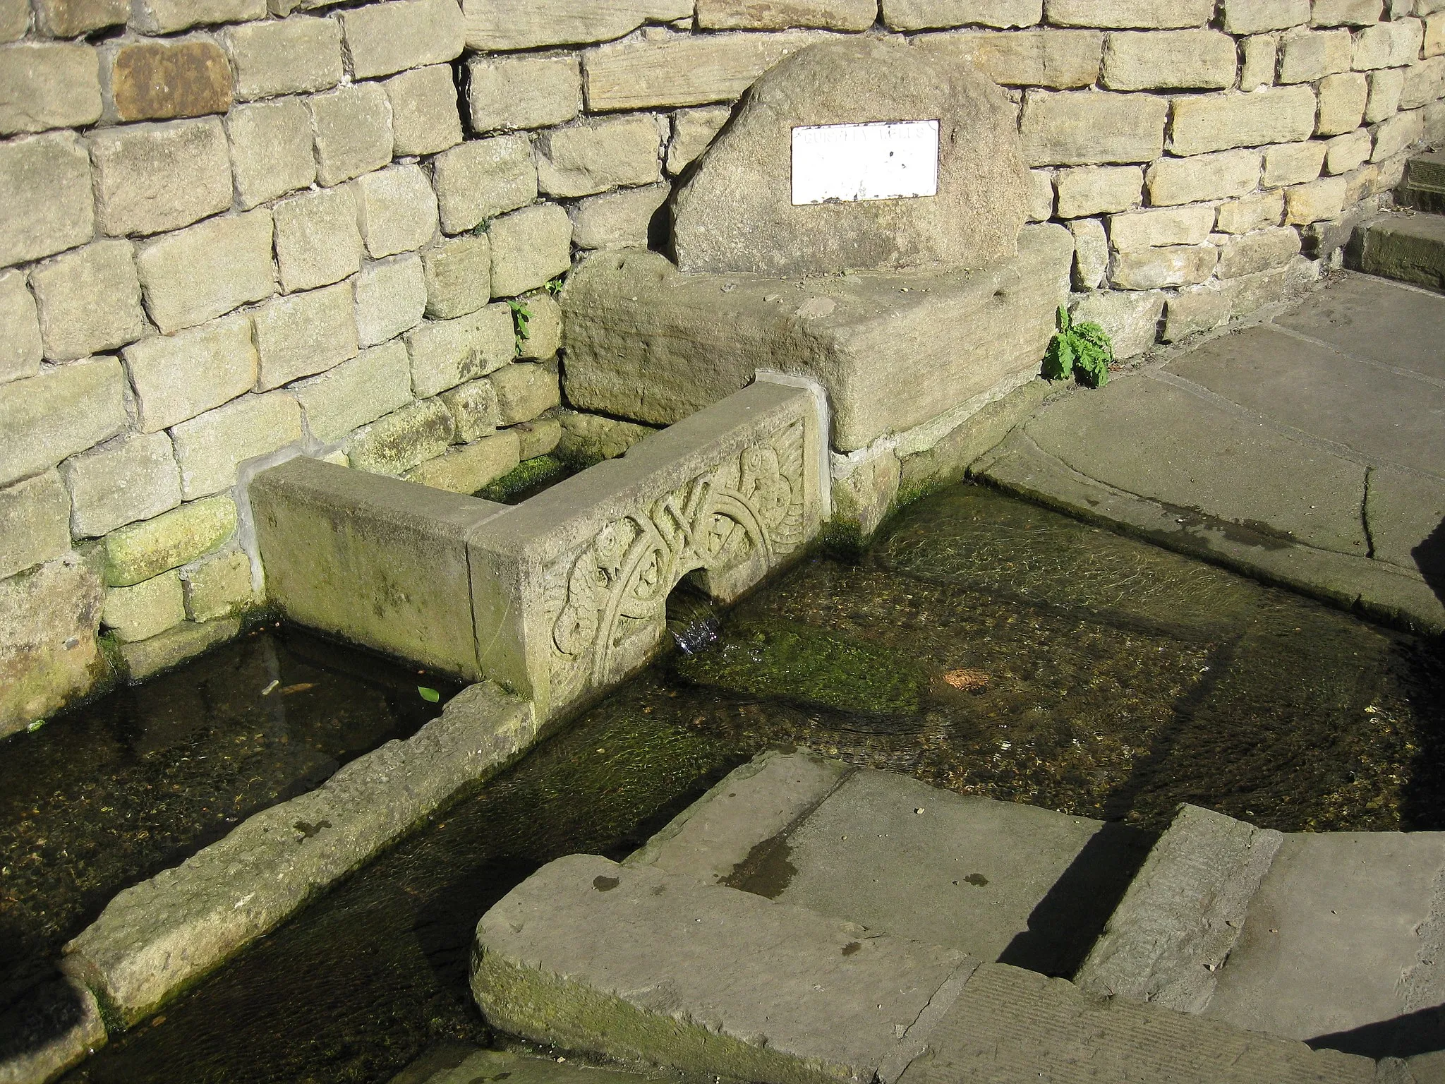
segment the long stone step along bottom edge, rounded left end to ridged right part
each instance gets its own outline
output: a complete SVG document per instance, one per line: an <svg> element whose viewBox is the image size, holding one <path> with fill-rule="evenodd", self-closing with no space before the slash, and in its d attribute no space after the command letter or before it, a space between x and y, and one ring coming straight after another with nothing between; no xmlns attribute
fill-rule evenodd
<svg viewBox="0 0 1445 1084"><path fill-rule="evenodd" d="M595 856L483 916L471 987L535 1042L762 1084L1376 1080L1368 1058Z"/></svg>

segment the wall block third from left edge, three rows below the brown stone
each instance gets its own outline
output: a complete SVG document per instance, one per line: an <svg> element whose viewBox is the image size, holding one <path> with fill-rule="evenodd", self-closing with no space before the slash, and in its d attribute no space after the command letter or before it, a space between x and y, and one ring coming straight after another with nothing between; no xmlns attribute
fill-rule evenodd
<svg viewBox="0 0 1445 1084"><path fill-rule="evenodd" d="M251 314L251 324L260 358L259 392L357 356L354 295L347 282L273 298Z"/></svg>

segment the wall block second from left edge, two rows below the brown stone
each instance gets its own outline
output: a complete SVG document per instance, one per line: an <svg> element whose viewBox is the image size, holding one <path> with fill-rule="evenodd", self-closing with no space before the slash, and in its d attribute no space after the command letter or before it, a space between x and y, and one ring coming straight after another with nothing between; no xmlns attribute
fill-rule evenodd
<svg viewBox="0 0 1445 1084"><path fill-rule="evenodd" d="M140 338L140 279L130 241L95 241L30 272L45 356L52 361L113 350Z"/></svg>

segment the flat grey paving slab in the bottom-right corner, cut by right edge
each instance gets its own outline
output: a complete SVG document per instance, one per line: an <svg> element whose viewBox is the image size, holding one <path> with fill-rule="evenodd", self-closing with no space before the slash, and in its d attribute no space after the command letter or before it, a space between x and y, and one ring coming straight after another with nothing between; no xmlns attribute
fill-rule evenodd
<svg viewBox="0 0 1445 1084"><path fill-rule="evenodd" d="M1442 873L1445 833L1286 835L1205 1012L1334 1045L1445 1000ZM1374 1042L1393 1052L1386 1032Z"/></svg>

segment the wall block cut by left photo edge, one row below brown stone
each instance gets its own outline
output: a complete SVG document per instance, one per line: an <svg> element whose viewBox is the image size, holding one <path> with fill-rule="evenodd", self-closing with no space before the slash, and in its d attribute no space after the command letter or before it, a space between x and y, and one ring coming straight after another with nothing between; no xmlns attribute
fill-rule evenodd
<svg viewBox="0 0 1445 1084"><path fill-rule="evenodd" d="M95 233L90 156L69 132L0 143L0 266L84 244Z"/></svg>

